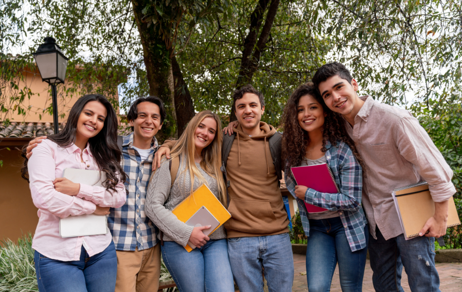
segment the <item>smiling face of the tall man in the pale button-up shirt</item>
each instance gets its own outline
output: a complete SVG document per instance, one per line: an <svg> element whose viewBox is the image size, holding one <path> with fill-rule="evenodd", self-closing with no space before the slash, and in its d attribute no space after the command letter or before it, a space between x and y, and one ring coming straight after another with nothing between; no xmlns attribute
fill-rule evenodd
<svg viewBox="0 0 462 292"><path fill-rule="evenodd" d="M320 82L319 91L327 107L342 115L356 113L361 108L356 94L358 84L352 79L351 84L338 75L331 76L326 81Z"/></svg>

